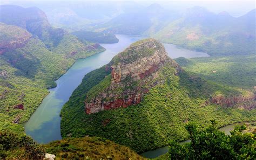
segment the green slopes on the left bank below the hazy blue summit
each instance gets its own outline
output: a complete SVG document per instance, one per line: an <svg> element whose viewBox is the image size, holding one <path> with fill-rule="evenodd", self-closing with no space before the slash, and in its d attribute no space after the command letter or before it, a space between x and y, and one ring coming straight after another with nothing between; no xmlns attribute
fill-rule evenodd
<svg viewBox="0 0 256 160"><path fill-rule="evenodd" d="M7 47L9 41L22 43L21 46L11 46L0 54L0 130L9 128L22 132L23 126L17 123L29 120L48 94L46 88L55 87L55 80L77 58L86 58L104 50L101 46L83 44L75 36L66 34L50 51L36 37L19 41L17 36L30 35L20 27L1 23L0 30L1 42ZM5 39L6 37L8 38Z"/></svg>

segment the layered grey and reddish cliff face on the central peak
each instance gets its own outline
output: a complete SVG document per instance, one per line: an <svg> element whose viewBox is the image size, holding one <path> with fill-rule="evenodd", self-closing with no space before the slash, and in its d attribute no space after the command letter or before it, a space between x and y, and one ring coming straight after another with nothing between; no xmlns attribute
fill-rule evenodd
<svg viewBox="0 0 256 160"><path fill-rule="evenodd" d="M132 44L106 66L111 74L87 94L85 112L91 114L140 103L150 88L164 82L158 72L166 64L176 67L178 74L179 66L167 57L158 41L146 39Z"/></svg>

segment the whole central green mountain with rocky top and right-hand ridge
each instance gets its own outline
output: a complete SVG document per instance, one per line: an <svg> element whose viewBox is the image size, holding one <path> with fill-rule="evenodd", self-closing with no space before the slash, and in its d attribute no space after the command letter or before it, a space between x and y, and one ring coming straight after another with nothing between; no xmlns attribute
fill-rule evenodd
<svg viewBox="0 0 256 160"><path fill-rule="evenodd" d="M254 96L187 73L159 41L144 39L84 76L62 108L61 133L105 137L143 152L186 140L186 122L255 121Z"/></svg>

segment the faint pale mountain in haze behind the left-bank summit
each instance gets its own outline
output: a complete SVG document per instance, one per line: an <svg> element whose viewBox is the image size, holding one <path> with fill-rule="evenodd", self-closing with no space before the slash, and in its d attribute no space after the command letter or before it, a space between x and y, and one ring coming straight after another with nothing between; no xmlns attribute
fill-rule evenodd
<svg viewBox="0 0 256 160"><path fill-rule="evenodd" d="M132 1L115 1L115 2L97 2L72 1L69 3L59 3L49 1L33 2L9 2L10 4L27 6L37 6L42 9L54 27L61 27L69 31L84 30L90 25L104 23L108 20L127 12L142 9L136 2Z"/></svg>

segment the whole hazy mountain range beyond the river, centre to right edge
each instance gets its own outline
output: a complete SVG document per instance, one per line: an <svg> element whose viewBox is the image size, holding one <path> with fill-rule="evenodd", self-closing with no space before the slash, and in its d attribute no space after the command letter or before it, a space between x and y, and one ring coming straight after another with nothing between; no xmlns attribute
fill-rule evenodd
<svg viewBox="0 0 256 160"><path fill-rule="evenodd" d="M235 18L227 12L215 14L199 6L177 13L158 4L95 26L95 30L142 34L211 55L254 54L255 28L255 9Z"/></svg>

